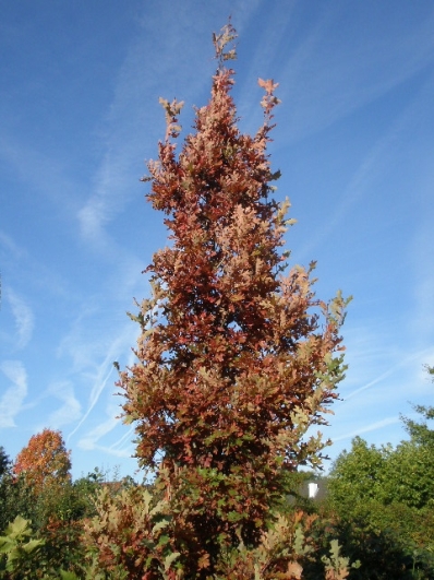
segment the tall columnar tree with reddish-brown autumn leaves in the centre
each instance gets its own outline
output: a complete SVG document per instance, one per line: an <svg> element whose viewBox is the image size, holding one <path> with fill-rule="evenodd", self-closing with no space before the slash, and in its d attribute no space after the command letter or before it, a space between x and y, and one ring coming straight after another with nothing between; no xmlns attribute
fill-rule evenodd
<svg viewBox="0 0 434 580"><path fill-rule="evenodd" d="M260 80L264 123L241 133L226 68L234 37L231 25L214 37L210 100L179 155L182 103L160 99L166 139L144 181L171 244L147 268L137 363L119 382L140 463L157 469L178 537L208 571L225 542L258 542L289 472L321 462L325 443L306 431L325 424L342 378L346 303L316 298L314 264L287 272L281 249L292 221L266 152L277 84Z"/></svg>

